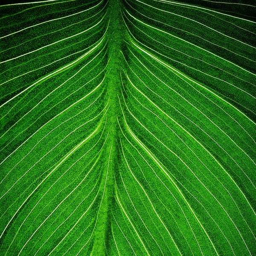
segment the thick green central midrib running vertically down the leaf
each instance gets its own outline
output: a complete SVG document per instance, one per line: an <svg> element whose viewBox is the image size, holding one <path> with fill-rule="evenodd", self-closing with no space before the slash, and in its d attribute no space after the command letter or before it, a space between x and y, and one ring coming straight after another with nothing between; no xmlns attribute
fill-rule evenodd
<svg viewBox="0 0 256 256"><path fill-rule="evenodd" d="M107 31L108 40L108 67L106 74L107 91L108 91L108 112L106 131L108 131L108 140L105 147L106 164L104 174L102 175L102 192L105 187L102 204L99 209L99 216L97 218L96 229L94 232L94 241L92 248L92 256L105 255L105 246L108 244L108 235L111 234L111 204L114 193L114 169L116 165L116 141L118 123L116 116L120 116L120 106L118 95L121 90L121 68L122 68L122 53L121 44L124 37L125 29L121 16L121 1L109 0L108 3L108 17L109 26ZM108 169L108 172L107 172ZM106 177L108 173L108 176ZM106 186L105 186L106 183Z"/></svg>

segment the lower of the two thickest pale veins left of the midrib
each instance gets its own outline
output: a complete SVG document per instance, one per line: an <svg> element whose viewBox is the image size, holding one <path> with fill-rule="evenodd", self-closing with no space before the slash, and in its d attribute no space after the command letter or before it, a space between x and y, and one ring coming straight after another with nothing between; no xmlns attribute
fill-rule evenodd
<svg viewBox="0 0 256 256"><path fill-rule="evenodd" d="M71 154L73 154L73 152L75 152L84 142L86 142L90 137L93 136L93 134L96 133L96 131L98 130L98 127L96 128L95 131L93 131L92 134L90 134L85 140L83 140L81 143L79 143L78 145L76 145L76 147L74 147L67 155L66 157L64 157L63 160L61 160L60 163L58 163L58 165L52 169L51 172L49 172L49 174L44 178L44 180L46 180L51 174L52 172L54 172L68 157L70 157ZM17 209L17 211L15 212L15 214L12 216L12 218L10 219L10 221L8 222L8 224L6 225L6 227L4 228L1 236L0 236L0 239L1 237L3 236L3 233L6 231L7 227L9 226L9 224L12 222L13 218L15 218L15 216L17 215L17 212L19 212L19 210L23 207L23 205L26 203L26 201L28 201L28 199L31 197L31 195L38 189L39 186L41 186L41 184L44 182L44 180L42 180L39 185L33 190L33 192L26 198L26 200L20 205L20 207Z"/></svg>

